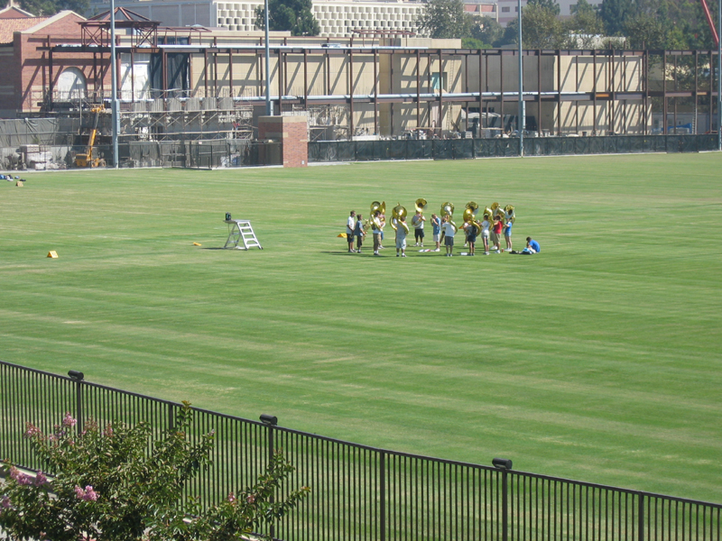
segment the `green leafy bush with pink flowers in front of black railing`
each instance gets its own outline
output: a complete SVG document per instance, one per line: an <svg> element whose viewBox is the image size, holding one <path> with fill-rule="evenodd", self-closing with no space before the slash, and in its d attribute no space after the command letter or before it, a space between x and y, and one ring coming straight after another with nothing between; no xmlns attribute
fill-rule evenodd
<svg viewBox="0 0 722 541"><path fill-rule="evenodd" d="M214 441L211 432L190 444L192 417L184 402L176 426L153 445L144 422L101 430L90 420L77 434L76 419L66 414L50 435L28 424L24 436L53 475L33 478L5 461L0 527L13 538L39 541L227 541L272 524L309 494L302 487L274 501L293 471L276 453L253 487L217 506L203 509L199 500L182 499L186 483L210 465Z"/></svg>

